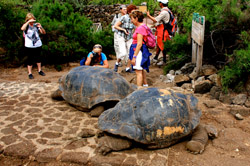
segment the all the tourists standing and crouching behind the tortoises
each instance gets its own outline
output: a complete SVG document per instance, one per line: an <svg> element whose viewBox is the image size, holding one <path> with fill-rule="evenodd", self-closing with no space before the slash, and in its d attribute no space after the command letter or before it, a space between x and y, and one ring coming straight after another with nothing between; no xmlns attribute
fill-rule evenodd
<svg viewBox="0 0 250 166"><path fill-rule="evenodd" d="M168 0L158 0L161 7L161 12L157 17L153 17L147 12L147 16L156 23L157 50L156 55L152 59L156 62L160 52L163 52L163 61L158 65L166 63L166 51L164 50L163 41L170 40L168 32L163 31L164 23L168 23L170 19L169 12L165 8L168 6ZM144 14L137 9L135 5L121 5L120 13L115 14L111 23L114 32L114 49L117 60L115 62L114 71L118 72L122 61L125 62L128 73L136 73L137 86L147 87L146 71L149 72L150 55L151 53L146 46L147 29L143 23ZM41 70L41 46L42 42L39 37L39 32L45 34L40 23L36 22L33 14L28 13L25 18L25 23L21 27L25 39L26 55L28 56L28 77L33 79L32 65L37 63L38 73L45 76ZM109 68L106 55L102 52L102 46L96 44L93 50L88 54L84 65L98 66Z"/></svg>

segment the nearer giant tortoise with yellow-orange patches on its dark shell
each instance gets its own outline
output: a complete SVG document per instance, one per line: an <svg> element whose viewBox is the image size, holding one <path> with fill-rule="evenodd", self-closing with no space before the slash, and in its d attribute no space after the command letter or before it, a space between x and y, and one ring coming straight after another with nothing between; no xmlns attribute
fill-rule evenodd
<svg viewBox="0 0 250 166"><path fill-rule="evenodd" d="M216 135L217 131L199 125L201 111L197 104L192 94L159 88L136 90L99 116L98 126L105 136L99 138L98 151L105 155L129 148L132 143L164 148L193 134L187 148L202 153L208 133Z"/></svg>

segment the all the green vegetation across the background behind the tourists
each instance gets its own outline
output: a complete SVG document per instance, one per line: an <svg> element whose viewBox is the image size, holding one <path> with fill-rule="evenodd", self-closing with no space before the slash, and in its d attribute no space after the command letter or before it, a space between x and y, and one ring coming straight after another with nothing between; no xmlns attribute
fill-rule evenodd
<svg viewBox="0 0 250 166"><path fill-rule="evenodd" d="M145 0L133 0L140 5ZM19 66L25 62L20 27L28 12L34 13L47 34L41 35L42 53L47 63L79 61L95 43L103 52L113 53L110 27L93 32L92 22L81 15L84 5L129 4L130 0L4 0L0 1L0 63ZM151 13L160 9L156 0L148 0ZM191 61L191 26L193 13L205 16L203 64L220 69L224 91L242 89L250 74L250 2L249 0L170 0L169 8L177 16L179 33L165 43L169 63L164 72L179 69ZM222 64L222 65L221 65Z"/></svg>

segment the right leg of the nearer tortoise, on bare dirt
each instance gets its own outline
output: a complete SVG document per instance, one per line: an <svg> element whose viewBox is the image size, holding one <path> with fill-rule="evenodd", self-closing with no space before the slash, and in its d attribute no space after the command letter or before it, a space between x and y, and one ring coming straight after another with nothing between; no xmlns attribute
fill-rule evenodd
<svg viewBox="0 0 250 166"><path fill-rule="evenodd" d="M201 154L205 150L207 141L207 131L204 126L199 125L195 129L191 141L187 143L186 148L193 154Z"/></svg>

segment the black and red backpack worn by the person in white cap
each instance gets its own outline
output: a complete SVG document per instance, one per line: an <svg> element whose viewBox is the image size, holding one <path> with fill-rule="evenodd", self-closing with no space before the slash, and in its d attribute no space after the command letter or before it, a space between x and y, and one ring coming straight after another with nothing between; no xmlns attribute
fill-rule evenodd
<svg viewBox="0 0 250 166"><path fill-rule="evenodd" d="M175 32L177 30L177 20L175 19L173 13L168 8L165 8L164 10L169 13L170 18L169 18L169 22L168 23L163 23L163 25L164 25L163 39L164 39L164 32L165 32L165 30L168 31L168 34L170 36L174 36Z"/></svg>

